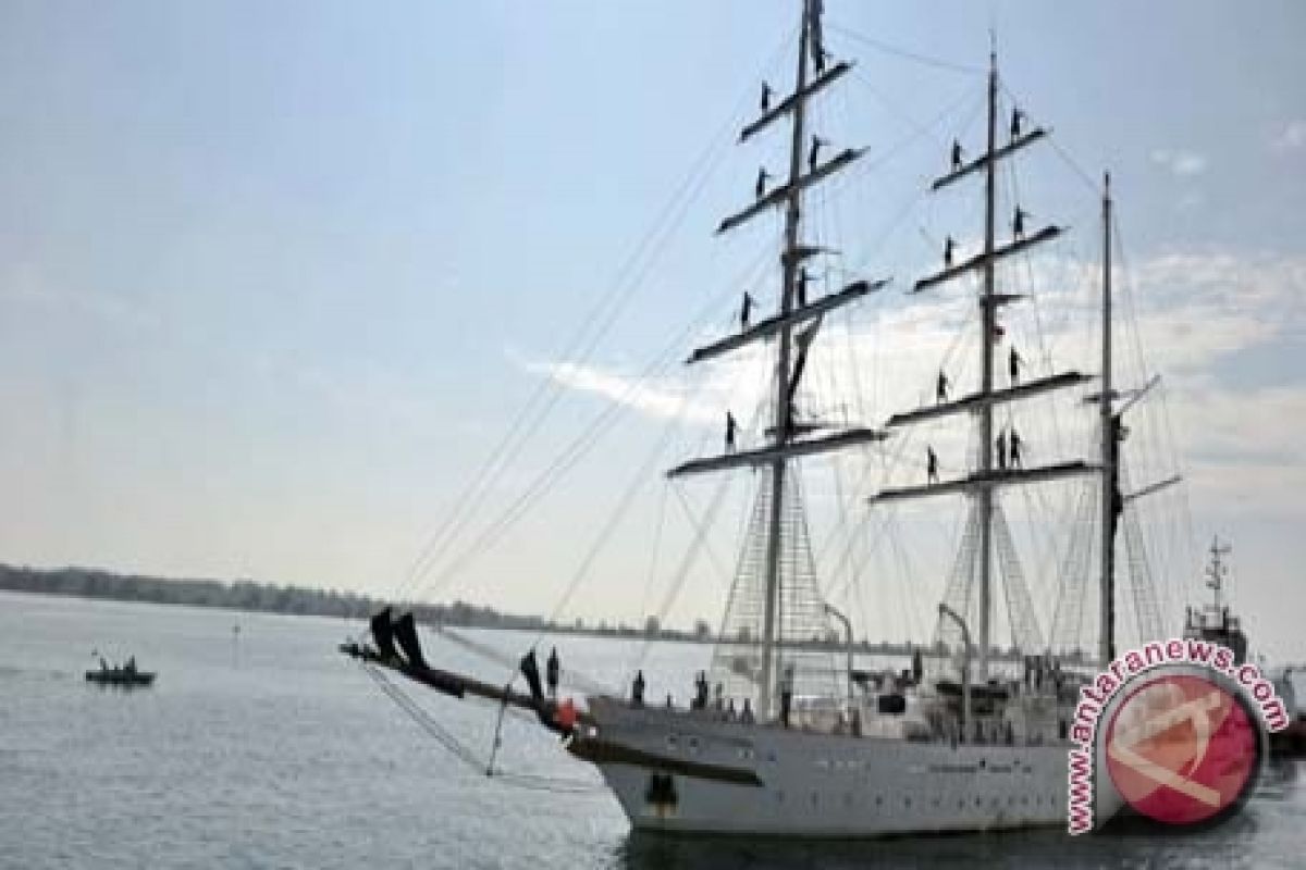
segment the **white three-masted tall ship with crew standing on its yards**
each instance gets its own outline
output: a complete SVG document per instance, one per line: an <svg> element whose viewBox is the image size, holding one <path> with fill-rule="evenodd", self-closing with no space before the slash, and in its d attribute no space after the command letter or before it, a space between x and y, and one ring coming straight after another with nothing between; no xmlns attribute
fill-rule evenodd
<svg viewBox="0 0 1306 870"><path fill-rule="evenodd" d="M1122 492L1122 419L1141 391L1119 390L1113 378L1109 179L1101 189L1101 368L1028 376L1015 350L1002 343L1004 313L1025 299L999 286L998 266L1057 239L1063 227L1027 226L1032 218L1019 206L1011 224L1006 215L999 219L999 167L1038 146L1049 132L1020 110L1003 111L994 55L983 141L955 143L951 160L943 155L939 162L947 171L930 185L935 192L976 189L983 205L978 243L963 253L948 239L942 269L906 288L943 293L963 283L977 287L973 391L955 395L940 372L932 402L883 423L836 425L808 413L804 373L823 322L888 282L850 277L820 293L811 290L810 269L829 249L804 235L808 197L857 166L866 151L836 149L821 138L824 130L812 129L814 104L838 89L854 65L831 56L820 0L801 7L793 89L781 95L765 87L759 115L739 136L782 137L788 166L774 179L760 172L752 201L718 227L718 233L730 233L778 213L777 305L752 317L752 300L746 299L738 329L688 356L691 365L705 367L763 348L772 377L761 410L765 421L757 427L761 437L741 443L731 416L725 450L667 472L671 479L748 472L755 485L710 669L684 676L697 686L692 700L645 697L640 674L629 693L598 693L581 704L558 702L541 685L534 650L521 660L522 689L491 685L427 663L413 614L394 618L389 609L372 620L367 639L342 648L376 673L457 698L490 699L500 710L532 711L559 733L565 751L598 768L636 830L861 837L1064 824L1067 721L1079 672L1115 655L1117 530L1123 524L1127 531L1135 497L1171 483ZM1096 416L1098 434L1089 455L1028 462L1006 412L1038 397L1076 391L1077 404ZM885 451L922 425L968 432L966 459L944 467L932 446L917 445L926 455L925 473L917 472L917 483L861 493L862 509L951 498L964 500L966 514L938 603L936 642L918 650L910 668L874 673L854 665L850 629L846 656L840 643L827 639L840 637L844 618L818 583L801 463ZM1097 530L1097 552L1081 543L1064 561L1092 565L1096 577L1058 603L1045 631L1021 579L1003 498L1057 481L1087 483L1091 494L1077 511ZM1158 631L1157 605L1144 599L1131 609L1144 622L1155 620ZM999 603L1007 610L1002 623L995 616ZM1058 648L1057 635L1067 623L1083 623L1085 608L1096 610L1089 621L1098 629L1096 646ZM1002 661L999 625L1016 647Z"/></svg>

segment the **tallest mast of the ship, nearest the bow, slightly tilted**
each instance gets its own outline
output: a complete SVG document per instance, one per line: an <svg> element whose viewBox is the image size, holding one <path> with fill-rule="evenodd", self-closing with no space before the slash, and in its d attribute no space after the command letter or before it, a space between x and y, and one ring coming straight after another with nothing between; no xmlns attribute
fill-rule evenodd
<svg viewBox="0 0 1306 870"><path fill-rule="evenodd" d="M794 83L793 129L789 138L789 197L785 207L785 250L781 254L784 290L780 293L780 340L776 351L776 417L772 425L772 446L782 450L789 442L793 397L789 390L789 357L793 351L793 325L786 322L794 307L794 279L799 257L798 227L802 218L803 121L807 110L807 50L811 35L811 0L803 0L803 22L798 38L798 72ZM767 535L767 591L761 622L761 685L757 712L771 716L772 683L774 682L776 621L780 616L780 523L784 519L785 458L781 454L771 463L771 524Z"/></svg>

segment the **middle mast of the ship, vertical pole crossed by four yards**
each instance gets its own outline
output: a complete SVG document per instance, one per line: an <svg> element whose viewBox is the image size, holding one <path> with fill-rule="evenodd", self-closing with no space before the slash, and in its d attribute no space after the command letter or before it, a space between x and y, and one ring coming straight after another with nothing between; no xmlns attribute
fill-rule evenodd
<svg viewBox="0 0 1306 870"><path fill-rule="evenodd" d="M998 160L994 151L998 145L998 55L989 55L989 143L985 167L985 209L983 209L983 299L980 303L983 316L980 329L983 330L983 368L981 370L980 393L993 393L993 346L996 326L996 305L994 296L994 210L996 207ZM985 402L980 410L980 473L993 471L993 404ZM980 682L989 680L989 631L993 614L993 489L980 489Z"/></svg>

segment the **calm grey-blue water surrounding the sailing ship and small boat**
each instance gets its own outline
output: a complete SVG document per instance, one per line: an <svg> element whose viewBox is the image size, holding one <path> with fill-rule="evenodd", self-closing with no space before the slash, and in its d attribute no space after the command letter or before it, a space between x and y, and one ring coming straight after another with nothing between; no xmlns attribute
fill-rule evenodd
<svg viewBox="0 0 1306 870"><path fill-rule="evenodd" d="M232 642L232 625L239 640ZM503 767L477 775L334 646L334 620L0 593L0 867L1302 867L1306 788L1272 771L1247 811L1194 836L1055 831L849 844L666 840L628 833L596 775L509 716ZM530 638L471 633L520 655ZM424 638L428 656L500 681L507 668ZM641 644L558 638L614 686ZM549 640L546 639L546 648ZM146 691L88 685L93 650L135 652ZM654 644L663 677L708 648ZM496 710L421 697L483 762Z"/></svg>

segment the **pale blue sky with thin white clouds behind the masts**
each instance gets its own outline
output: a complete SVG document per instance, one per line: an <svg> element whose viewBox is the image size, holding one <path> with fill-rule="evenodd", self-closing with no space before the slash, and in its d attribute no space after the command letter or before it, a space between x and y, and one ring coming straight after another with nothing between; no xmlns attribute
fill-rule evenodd
<svg viewBox="0 0 1306 870"><path fill-rule="evenodd" d="M1306 10L825 5L857 68L812 125L867 154L810 200L812 237L840 249L820 284L895 283L827 325L811 411L878 423L939 368L974 377L970 288L902 291L946 235L980 239L976 188L923 190L953 138L978 147L993 38L1004 111L1053 129L1003 176L1003 214L1071 230L1003 273L1037 300L1010 340L1096 370L1110 168L1121 377L1165 383L1139 412L1138 483L1185 475L1153 511L1170 616L1218 533L1254 646L1306 660ZM760 437L760 357L678 361L743 290L774 304L777 222L712 231L781 166L782 136L734 136L761 80L791 81L795 29L789 0L0 3L0 560L714 621L750 484L682 573L714 489L661 471L717 449L727 408ZM1032 450L1075 442L1075 413L1023 419ZM946 468L964 464L949 437L923 436ZM867 493L821 473L816 514L883 524L849 520ZM904 519L908 549L955 535L948 510ZM440 528L457 536L428 548ZM1054 596L1059 545L1016 531ZM862 631L927 630L946 562L889 577L899 558L840 540L819 547L866 548Z"/></svg>

